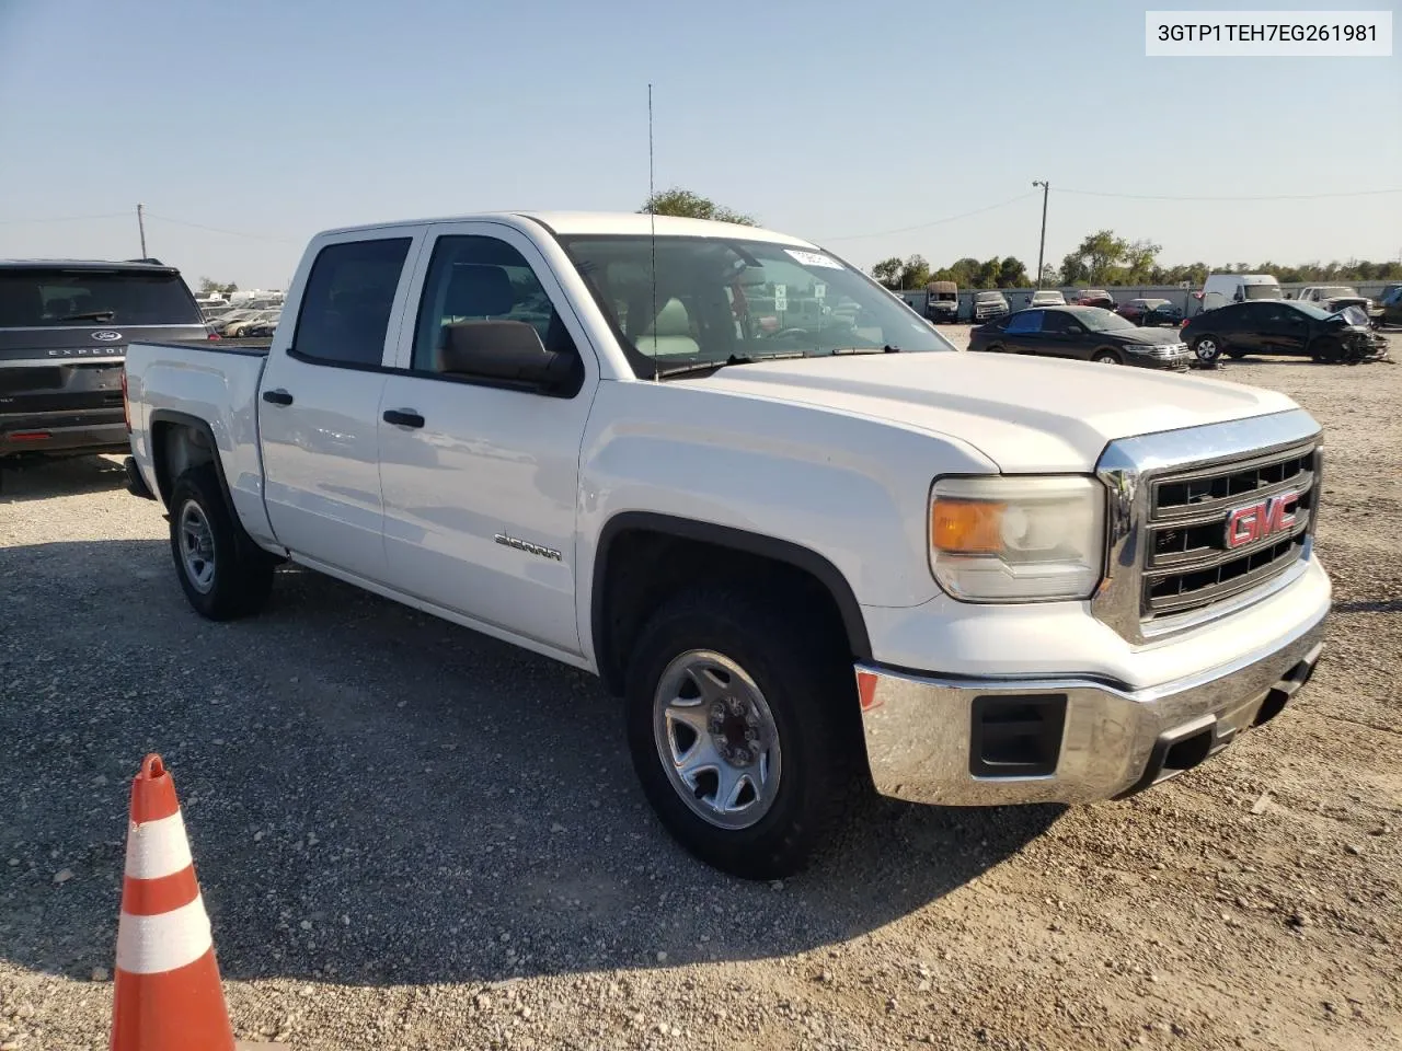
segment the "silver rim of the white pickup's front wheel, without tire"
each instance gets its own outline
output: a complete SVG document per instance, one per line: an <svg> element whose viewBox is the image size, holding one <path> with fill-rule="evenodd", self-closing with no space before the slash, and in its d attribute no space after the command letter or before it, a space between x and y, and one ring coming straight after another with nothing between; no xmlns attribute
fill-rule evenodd
<svg viewBox="0 0 1402 1051"><path fill-rule="evenodd" d="M652 702L653 740L672 788L704 821L749 828L778 795L778 727L744 668L711 650L667 664Z"/></svg>

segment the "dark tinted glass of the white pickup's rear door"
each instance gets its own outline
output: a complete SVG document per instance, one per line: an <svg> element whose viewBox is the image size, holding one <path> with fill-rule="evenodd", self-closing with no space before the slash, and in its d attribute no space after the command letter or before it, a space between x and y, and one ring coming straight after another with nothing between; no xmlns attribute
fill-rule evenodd
<svg viewBox="0 0 1402 1051"><path fill-rule="evenodd" d="M409 237L322 248L301 297L292 353L318 364L379 366Z"/></svg>

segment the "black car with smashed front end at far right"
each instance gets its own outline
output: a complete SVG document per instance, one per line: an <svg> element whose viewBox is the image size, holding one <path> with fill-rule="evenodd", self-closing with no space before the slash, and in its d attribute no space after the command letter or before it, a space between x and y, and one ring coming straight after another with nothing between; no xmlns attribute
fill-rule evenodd
<svg viewBox="0 0 1402 1051"><path fill-rule="evenodd" d="M1357 307L1329 312L1297 300L1228 303L1195 314L1180 329L1197 360L1211 364L1223 355L1309 355L1316 362L1360 362L1384 357L1385 336L1368 328Z"/></svg>

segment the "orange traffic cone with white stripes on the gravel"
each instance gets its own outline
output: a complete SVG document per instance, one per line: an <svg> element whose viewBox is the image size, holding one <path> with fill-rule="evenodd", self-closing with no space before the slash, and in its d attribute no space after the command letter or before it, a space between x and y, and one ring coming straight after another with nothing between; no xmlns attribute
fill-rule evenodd
<svg viewBox="0 0 1402 1051"><path fill-rule="evenodd" d="M234 1048L175 782L160 755L147 755L132 782L111 1048Z"/></svg>

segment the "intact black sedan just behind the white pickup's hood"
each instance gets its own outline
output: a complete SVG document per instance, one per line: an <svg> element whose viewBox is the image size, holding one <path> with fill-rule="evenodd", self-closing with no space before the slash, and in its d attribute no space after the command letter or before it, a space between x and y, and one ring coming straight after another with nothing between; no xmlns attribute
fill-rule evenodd
<svg viewBox="0 0 1402 1051"><path fill-rule="evenodd" d="M1140 328L1099 307L1019 310L969 334L970 350L1075 357L1101 364L1186 370L1192 352L1175 329Z"/></svg>

